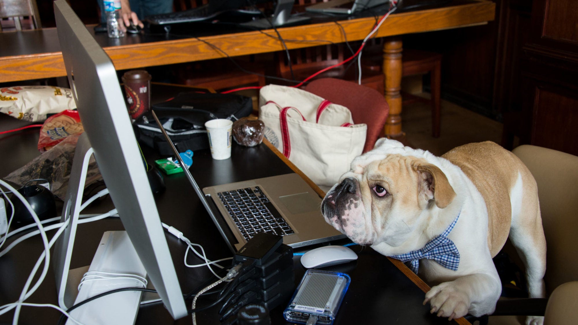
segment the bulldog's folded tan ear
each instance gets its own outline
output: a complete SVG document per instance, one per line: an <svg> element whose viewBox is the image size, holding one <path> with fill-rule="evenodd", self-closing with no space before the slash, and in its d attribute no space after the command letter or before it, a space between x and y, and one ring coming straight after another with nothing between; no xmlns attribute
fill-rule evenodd
<svg viewBox="0 0 578 325"><path fill-rule="evenodd" d="M446 174L432 164L416 164L415 168L421 180L420 195L425 195L428 200L433 198L440 209L450 205L455 198L455 191Z"/></svg>

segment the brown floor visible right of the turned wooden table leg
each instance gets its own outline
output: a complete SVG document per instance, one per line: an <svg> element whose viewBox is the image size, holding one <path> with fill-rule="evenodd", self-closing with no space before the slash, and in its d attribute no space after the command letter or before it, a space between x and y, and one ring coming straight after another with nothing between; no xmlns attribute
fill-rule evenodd
<svg viewBox="0 0 578 325"><path fill-rule="evenodd" d="M427 96L429 94L424 94ZM431 106L416 102L403 106L402 129L407 145L428 150L439 156L470 142L500 143L503 124L488 119L451 102L442 101L442 122L439 138L431 136Z"/></svg>

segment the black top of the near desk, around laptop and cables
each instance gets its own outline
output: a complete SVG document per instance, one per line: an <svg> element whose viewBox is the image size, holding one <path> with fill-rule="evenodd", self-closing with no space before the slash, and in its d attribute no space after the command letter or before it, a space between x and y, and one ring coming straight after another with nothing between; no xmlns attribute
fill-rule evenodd
<svg viewBox="0 0 578 325"><path fill-rule="evenodd" d="M18 124L12 117L0 115L0 131L14 128ZM36 150L38 129L20 131L15 134L0 135L0 150L4 160L0 164L0 176L21 167L39 155ZM9 153L9 154L8 154ZM154 154L147 154L151 162ZM264 177L290 172L287 165L275 156L265 145L232 148L232 158L215 161L208 150L195 152L191 171L198 177L199 185L207 186L242 179ZM201 243L211 260L231 257L223 239L198 200L186 177L175 174L165 177L166 191L157 201L161 221L173 226L191 239ZM112 209L110 200L95 202L85 213L106 212ZM120 220L109 218L90 224L79 225L71 269L90 265L92 256L104 231L123 230ZM49 238L54 231L49 231ZM9 239L6 245L9 245ZM205 267L187 268L183 264L186 245L172 235L166 240L171 250L173 263L179 276L183 293L198 291L205 282L216 278ZM6 247L6 246L5 246ZM429 305L422 305L424 293L409 280L386 257L371 248L352 246L359 259L353 263L335 265L325 269L346 272L351 276L351 285L340 307L335 324L447 324L446 319L429 313ZM27 239L12 251L0 257L0 305L18 299L29 272L42 252L39 236ZM189 254L188 263L201 263ZM223 263L223 265L227 265ZM294 257L295 285L301 280L305 269ZM53 269L50 268L39 290L27 302L57 304ZM197 306L212 302L210 298L199 298ZM190 304L190 301L187 302ZM271 311L273 324L288 324L282 316L286 302ZM189 306L190 308L190 306ZM23 307L20 324L55 324L60 312L51 308ZM216 308L198 313L199 324L218 324ZM0 316L0 324L11 323L12 312ZM190 324L190 317L173 320L161 304L142 306L137 324Z"/></svg>

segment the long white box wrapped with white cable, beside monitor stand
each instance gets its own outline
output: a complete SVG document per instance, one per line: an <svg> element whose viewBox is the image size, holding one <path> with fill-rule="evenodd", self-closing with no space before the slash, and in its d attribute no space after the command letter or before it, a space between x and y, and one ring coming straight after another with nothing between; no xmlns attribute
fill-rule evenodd
<svg viewBox="0 0 578 325"><path fill-rule="evenodd" d="M126 231L106 231L88 271L113 272L146 276L146 271L136 254ZM75 304L97 294L125 287L143 287L135 279L105 279L84 282ZM83 324L134 324L142 291L121 291L84 304L71 312ZM74 324L68 320L66 324Z"/></svg>

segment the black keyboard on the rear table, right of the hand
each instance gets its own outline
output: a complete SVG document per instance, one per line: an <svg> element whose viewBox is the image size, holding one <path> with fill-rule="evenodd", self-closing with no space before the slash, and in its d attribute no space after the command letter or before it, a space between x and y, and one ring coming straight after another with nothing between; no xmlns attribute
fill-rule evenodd
<svg viewBox="0 0 578 325"><path fill-rule="evenodd" d="M146 21L154 25L178 24L178 23L194 23L195 21L212 20L221 14L235 14L238 16L257 16L261 12L259 10L244 10L234 9L220 12L211 12L209 5L202 5L198 8L184 10L181 12L171 12L163 14L153 14L146 17Z"/></svg>

